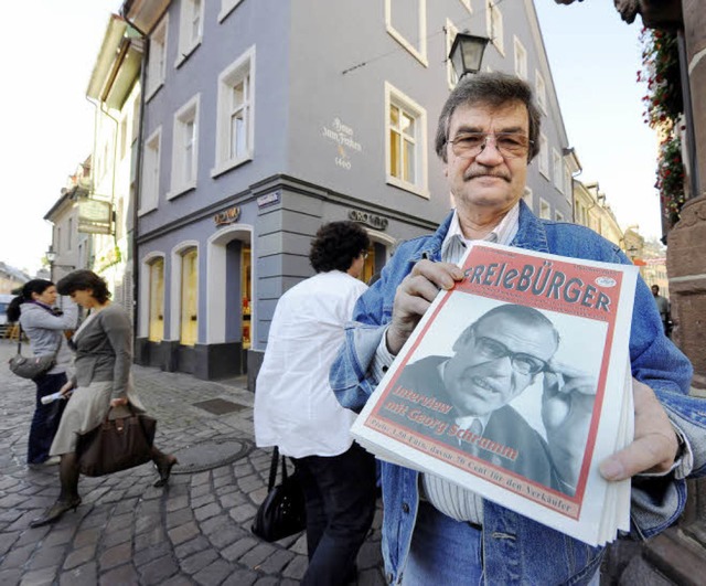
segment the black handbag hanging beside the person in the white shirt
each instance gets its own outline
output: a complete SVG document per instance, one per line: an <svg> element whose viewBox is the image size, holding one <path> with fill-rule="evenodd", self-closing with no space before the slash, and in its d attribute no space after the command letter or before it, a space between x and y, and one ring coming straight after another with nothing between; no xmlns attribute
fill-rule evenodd
<svg viewBox="0 0 706 586"><path fill-rule="evenodd" d="M304 493L301 490L299 473L295 470L292 475L287 475L287 462L282 456L282 481L275 486L278 460L279 449L275 447L269 467L267 497L257 510L250 528L253 533L268 542L288 537L307 528Z"/></svg>

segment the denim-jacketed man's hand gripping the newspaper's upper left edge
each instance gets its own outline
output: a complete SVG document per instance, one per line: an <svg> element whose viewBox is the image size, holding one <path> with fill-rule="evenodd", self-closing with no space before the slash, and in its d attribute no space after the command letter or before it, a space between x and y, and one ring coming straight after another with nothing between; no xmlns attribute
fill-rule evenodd
<svg viewBox="0 0 706 586"><path fill-rule="evenodd" d="M463 271L450 263L419 260L397 287L393 303L393 319L387 329L387 350L397 354L429 309L439 289L451 289Z"/></svg>

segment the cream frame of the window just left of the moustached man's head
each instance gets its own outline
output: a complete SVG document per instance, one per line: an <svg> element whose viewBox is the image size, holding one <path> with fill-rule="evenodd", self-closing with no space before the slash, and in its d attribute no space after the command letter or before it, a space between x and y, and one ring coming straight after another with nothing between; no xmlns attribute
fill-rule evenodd
<svg viewBox="0 0 706 586"><path fill-rule="evenodd" d="M391 158L392 158L392 145L391 145L391 108L395 106L402 109L406 114L411 113L411 118L415 120L415 171L416 178L414 182L408 182L402 178L398 178L391 173ZM403 92L393 86L389 82L385 82L385 181L389 185L403 189L421 198L429 199L428 187L428 169L427 169L427 152L428 152L428 137L427 137L427 110L421 107L417 102L405 95Z"/></svg>

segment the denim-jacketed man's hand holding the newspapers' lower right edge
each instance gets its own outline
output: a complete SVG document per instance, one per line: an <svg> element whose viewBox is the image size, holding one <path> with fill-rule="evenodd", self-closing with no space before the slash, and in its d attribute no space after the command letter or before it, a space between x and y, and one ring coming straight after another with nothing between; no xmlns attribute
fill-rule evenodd
<svg viewBox="0 0 706 586"><path fill-rule="evenodd" d="M660 401L646 384L632 380L635 437L632 444L600 465L607 480L624 480L640 472L667 472L678 449L676 433Z"/></svg>

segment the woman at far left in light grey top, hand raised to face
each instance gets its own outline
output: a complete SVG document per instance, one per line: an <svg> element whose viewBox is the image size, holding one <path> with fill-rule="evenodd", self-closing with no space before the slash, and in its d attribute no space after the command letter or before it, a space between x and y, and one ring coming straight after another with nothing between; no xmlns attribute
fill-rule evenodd
<svg viewBox="0 0 706 586"><path fill-rule="evenodd" d="M8 306L8 321L20 322L22 331L30 340L33 354L56 355L54 366L34 379L36 401L26 452L30 466L58 464L58 458L50 458L49 450L66 402L54 401L43 405L42 398L58 392L66 383L71 350L64 338L64 330L76 328L78 312L72 303L62 313L54 309L55 302L54 284L51 280L32 279L24 284L22 292Z"/></svg>

